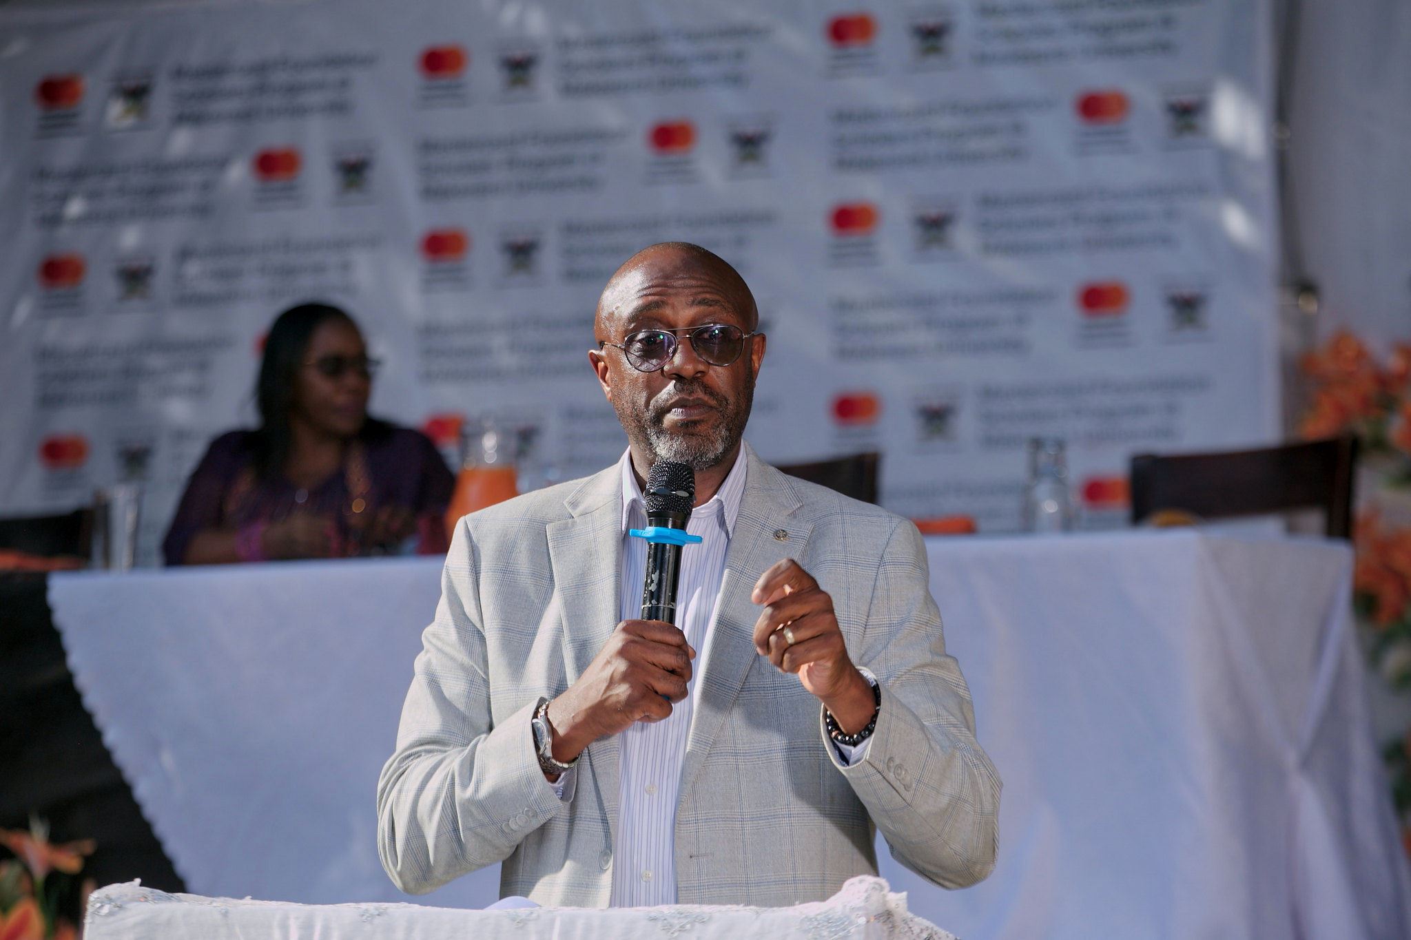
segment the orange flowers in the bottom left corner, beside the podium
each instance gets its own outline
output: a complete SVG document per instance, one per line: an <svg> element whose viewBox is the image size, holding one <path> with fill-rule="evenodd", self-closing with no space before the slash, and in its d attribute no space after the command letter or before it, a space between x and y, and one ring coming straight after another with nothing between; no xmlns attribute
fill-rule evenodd
<svg viewBox="0 0 1411 940"><path fill-rule="evenodd" d="M49 829L30 819L30 830L0 829L0 846L14 858L0 861L0 940L78 940L79 930L59 913L93 840L56 846ZM92 882L79 886L92 891ZM78 908L82 910L82 898Z"/></svg>

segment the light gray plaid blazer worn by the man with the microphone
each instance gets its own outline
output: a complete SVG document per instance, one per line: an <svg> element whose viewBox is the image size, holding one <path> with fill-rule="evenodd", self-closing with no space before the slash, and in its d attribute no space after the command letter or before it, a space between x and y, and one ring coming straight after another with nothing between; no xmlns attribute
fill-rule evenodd
<svg viewBox="0 0 1411 940"><path fill-rule="evenodd" d="M975 741L969 689L945 655L927 559L910 521L786 476L745 448L676 813L682 903L782 906L876 874L873 833L947 888L993 868L999 777ZM461 519L423 634L396 751L377 791L378 851L422 893L502 861L502 895L608 903L618 824L617 737L579 764L562 802L539 772L529 719L593 661L618 623L615 466ZM844 767L823 709L753 647L755 581L796 558L832 596L848 651L876 674L866 760Z"/></svg>

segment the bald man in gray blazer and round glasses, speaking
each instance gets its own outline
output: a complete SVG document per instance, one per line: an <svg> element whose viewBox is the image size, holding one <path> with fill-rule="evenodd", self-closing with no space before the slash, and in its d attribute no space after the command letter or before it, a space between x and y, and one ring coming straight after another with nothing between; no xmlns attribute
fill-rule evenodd
<svg viewBox="0 0 1411 940"><path fill-rule="evenodd" d="M502 861L543 905L793 905L876 874L875 829L938 885L993 868L999 777L921 538L744 443L758 326L696 245L608 280L588 359L628 450L457 524L378 782L401 889ZM696 478L674 626L636 619L658 461Z"/></svg>

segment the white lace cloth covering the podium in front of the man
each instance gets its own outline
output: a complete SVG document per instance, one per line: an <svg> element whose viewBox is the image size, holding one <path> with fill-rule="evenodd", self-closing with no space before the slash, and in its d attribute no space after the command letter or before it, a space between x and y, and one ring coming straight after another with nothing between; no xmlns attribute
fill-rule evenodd
<svg viewBox="0 0 1411 940"><path fill-rule="evenodd" d="M169 895L133 881L89 898L87 940L250 940L251 937L416 937L416 940L955 940L909 913L880 878L852 878L828 901L794 908L521 908L457 910L406 903L296 905Z"/></svg>

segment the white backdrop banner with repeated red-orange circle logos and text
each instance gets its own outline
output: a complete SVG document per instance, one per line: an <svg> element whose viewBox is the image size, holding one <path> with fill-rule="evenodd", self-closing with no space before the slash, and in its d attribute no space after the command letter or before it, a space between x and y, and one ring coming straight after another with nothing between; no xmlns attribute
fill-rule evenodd
<svg viewBox="0 0 1411 940"><path fill-rule="evenodd" d="M0 510L150 447L144 554L260 337L346 306L374 412L624 447L587 365L612 269L697 241L753 287L773 461L883 451L883 503L1017 524L1068 441L1277 433L1267 0L374 0L0 13Z"/></svg>

